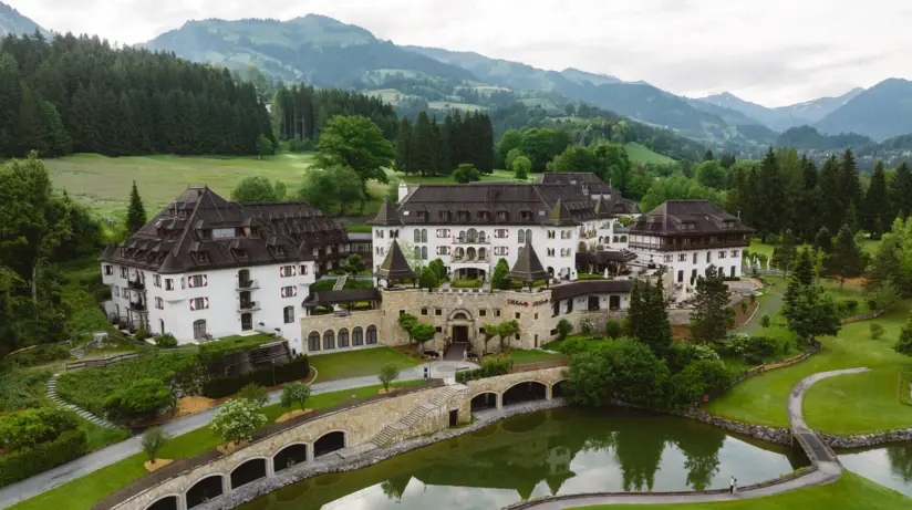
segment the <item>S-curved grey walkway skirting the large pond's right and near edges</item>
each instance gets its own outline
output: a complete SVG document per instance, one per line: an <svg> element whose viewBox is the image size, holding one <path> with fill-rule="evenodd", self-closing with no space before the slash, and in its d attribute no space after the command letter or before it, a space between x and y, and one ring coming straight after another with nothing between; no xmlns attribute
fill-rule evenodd
<svg viewBox="0 0 912 510"><path fill-rule="evenodd" d="M850 368L844 371L821 372L805 377L791 389L788 397L788 417L792 434L805 449L808 458L817 469L807 475L794 478L783 483L760 488L746 488L735 495L727 491L706 492L626 492L626 493L592 493L566 497L547 497L536 501L524 501L505 507L505 510L535 509L563 510L599 504L662 504L662 503L702 503L718 501L735 501L743 499L763 498L807 487L831 483L842 476L842 466L832 450L805 423L802 404L805 393L816 382L844 374L858 374L868 368Z"/></svg>

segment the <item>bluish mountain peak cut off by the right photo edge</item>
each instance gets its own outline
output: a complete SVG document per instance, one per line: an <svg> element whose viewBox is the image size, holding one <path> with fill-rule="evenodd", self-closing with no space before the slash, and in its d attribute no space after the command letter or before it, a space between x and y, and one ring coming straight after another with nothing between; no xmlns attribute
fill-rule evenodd
<svg viewBox="0 0 912 510"><path fill-rule="evenodd" d="M854 132L883 142L912 133L912 82L884 80L813 125L821 133Z"/></svg>

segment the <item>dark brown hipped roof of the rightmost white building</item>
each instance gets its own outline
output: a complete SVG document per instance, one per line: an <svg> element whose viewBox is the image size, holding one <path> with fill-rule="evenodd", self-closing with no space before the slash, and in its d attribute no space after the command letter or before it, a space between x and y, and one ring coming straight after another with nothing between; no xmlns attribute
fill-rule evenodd
<svg viewBox="0 0 912 510"><path fill-rule="evenodd" d="M669 200L631 226L630 233L642 236L699 236L709 233L753 233L737 217L708 200Z"/></svg>

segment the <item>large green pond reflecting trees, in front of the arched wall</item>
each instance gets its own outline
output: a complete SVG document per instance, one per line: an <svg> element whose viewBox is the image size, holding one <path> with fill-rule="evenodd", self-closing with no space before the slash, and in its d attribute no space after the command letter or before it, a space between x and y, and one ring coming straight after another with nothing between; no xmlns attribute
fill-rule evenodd
<svg viewBox="0 0 912 510"><path fill-rule="evenodd" d="M243 510L490 510L530 497L727 488L809 462L800 450L685 418L566 407L506 419L345 473L286 487Z"/></svg>

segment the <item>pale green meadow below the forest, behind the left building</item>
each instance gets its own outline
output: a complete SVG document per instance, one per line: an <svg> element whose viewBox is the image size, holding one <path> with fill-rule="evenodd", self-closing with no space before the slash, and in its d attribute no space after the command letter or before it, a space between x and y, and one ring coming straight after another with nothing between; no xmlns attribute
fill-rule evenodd
<svg viewBox="0 0 912 510"><path fill-rule="evenodd" d="M54 186L99 214L121 218L134 180L152 217L189 185L208 185L229 198L245 177L279 179L293 192L313 162L312 154L256 157L135 156L110 158L77 154L45 159Z"/></svg>

